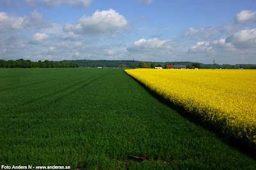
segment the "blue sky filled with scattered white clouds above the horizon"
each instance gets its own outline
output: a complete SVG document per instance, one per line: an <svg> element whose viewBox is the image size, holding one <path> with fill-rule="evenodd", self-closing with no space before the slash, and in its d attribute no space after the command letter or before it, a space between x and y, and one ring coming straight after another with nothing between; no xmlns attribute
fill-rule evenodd
<svg viewBox="0 0 256 170"><path fill-rule="evenodd" d="M256 64L256 1L1 0L0 59Z"/></svg>

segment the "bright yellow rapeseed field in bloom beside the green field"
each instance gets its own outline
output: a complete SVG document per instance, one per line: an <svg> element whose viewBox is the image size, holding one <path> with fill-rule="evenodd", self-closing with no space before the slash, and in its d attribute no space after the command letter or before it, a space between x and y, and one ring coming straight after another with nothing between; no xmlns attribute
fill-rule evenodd
<svg viewBox="0 0 256 170"><path fill-rule="evenodd" d="M126 69L157 94L224 133L256 144L256 70Z"/></svg>

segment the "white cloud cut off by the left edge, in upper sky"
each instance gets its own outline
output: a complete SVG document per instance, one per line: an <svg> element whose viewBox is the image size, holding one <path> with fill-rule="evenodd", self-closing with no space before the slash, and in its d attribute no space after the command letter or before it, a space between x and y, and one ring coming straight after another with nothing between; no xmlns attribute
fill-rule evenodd
<svg viewBox="0 0 256 170"><path fill-rule="evenodd" d="M13 29L22 29L24 19L15 17L5 12L0 12L0 31L8 31Z"/></svg>

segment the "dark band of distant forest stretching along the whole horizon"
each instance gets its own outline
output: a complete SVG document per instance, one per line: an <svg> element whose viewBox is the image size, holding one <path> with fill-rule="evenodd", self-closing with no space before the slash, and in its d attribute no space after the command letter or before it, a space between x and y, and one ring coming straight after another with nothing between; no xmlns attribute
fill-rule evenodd
<svg viewBox="0 0 256 170"><path fill-rule="evenodd" d="M31 60L0 60L0 67L6 68L49 68L49 67L140 67L139 60L62 60L62 61L41 61L32 62ZM195 62L144 62L145 67L160 65L166 67L166 64L192 66ZM201 69L256 69L256 64L200 64Z"/></svg>

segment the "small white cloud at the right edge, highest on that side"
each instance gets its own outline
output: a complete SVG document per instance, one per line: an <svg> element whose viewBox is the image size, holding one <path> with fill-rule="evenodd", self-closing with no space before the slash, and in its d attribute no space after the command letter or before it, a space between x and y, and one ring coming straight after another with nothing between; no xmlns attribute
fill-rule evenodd
<svg viewBox="0 0 256 170"><path fill-rule="evenodd" d="M237 13L235 22L241 24L248 21L256 21L256 11L243 10L240 13Z"/></svg>

